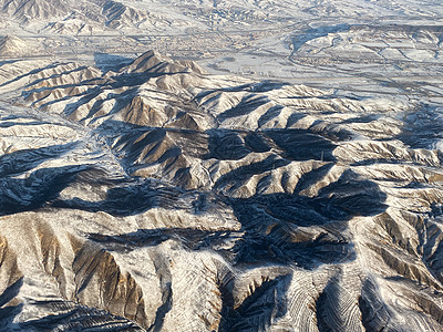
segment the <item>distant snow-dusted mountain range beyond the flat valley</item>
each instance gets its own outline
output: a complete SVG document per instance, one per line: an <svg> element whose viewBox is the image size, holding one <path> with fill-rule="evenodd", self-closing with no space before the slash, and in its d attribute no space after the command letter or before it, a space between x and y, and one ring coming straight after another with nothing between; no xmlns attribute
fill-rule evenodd
<svg viewBox="0 0 443 332"><path fill-rule="evenodd" d="M437 17L440 4L418 6L416 1L117 1L117 0L0 0L3 20L12 20L22 29L32 25L33 32L53 27L53 33L82 34L101 31L173 32L218 31L241 27L253 30L275 29L296 20L307 22L318 17L367 21L373 17L415 15ZM408 9L406 9L408 8ZM82 29L85 25L86 29ZM177 32L178 32L177 30ZM241 30L241 29L240 29ZM24 31L27 31L24 29ZM174 33L173 33L174 34Z"/></svg>

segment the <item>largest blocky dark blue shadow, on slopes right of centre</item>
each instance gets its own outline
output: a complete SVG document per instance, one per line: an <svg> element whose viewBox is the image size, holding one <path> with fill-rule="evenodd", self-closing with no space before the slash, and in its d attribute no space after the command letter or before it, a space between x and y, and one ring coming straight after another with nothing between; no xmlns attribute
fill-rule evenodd
<svg viewBox="0 0 443 332"><path fill-rule="evenodd" d="M352 260L353 248L342 236L347 221L354 216L384 211L385 198L377 184L359 178L351 170L316 197L271 194L231 198L230 206L245 232L233 249L235 262L268 261L313 269ZM324 232L312 237L300 232L298 226L320 226Z"/></svg>

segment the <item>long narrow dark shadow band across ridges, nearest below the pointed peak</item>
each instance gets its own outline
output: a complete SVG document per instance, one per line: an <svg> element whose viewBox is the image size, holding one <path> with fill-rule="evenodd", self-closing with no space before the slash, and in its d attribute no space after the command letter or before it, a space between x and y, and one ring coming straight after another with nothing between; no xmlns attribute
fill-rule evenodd
<svg viewBox="0 0 443 332"><path fill-rule="evenodd" d="M123 106L115 105L115 108L119 110ZM95 105L91 112L94 110ZM181 155L204 159L238 160L250 153L262 153L270 151L272 147L276 154L286 159L285 163L309 159L333 162L336 159L332 151L337 145L329 138L323 137L322 133L315 133L310 129L270 129L259 132L210 129L206 133L200 133L186 128L137 126L119 121L105 122L100 126L100 129L101 132L112 129L120 133L120 137L117 141L112 141L112 145L121 151L117 154L121 155L122 165L126 169L135 166L134 163L140 164L141 155L145 155L146 165L150 163L163 163L165 159L172 160ZM207 148L205 147L206 144L208 145ZM146 146L150 146L148 152ZM150 158L157 149L166 148L166 146L168 148L162 153L161 158L156 160ZM278 165L274 166L278 167ZM248 168L255 169L257 167L253 164L250 167L246 166L241 169ZM237 173L243 174L243 170L237 170ZM259 170L257 169L257 172ZM258 174L257 172L255 174Z"/></svg>

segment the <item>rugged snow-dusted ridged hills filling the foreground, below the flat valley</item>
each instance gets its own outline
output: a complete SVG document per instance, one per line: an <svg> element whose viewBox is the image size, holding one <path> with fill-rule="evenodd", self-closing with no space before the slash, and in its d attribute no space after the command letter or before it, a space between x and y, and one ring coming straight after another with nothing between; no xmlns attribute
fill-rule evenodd
<svg viewBox="0 0 443 332"><path fill-rule="evenodd" d="M2 329L442 329L429 110L155 52L2 69Z"/></svg>

